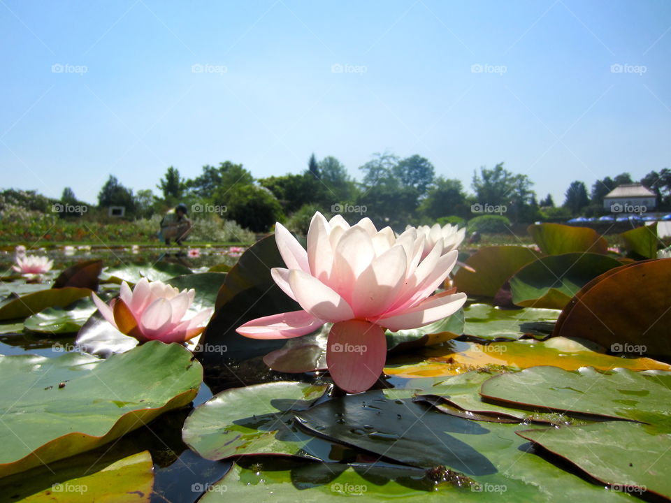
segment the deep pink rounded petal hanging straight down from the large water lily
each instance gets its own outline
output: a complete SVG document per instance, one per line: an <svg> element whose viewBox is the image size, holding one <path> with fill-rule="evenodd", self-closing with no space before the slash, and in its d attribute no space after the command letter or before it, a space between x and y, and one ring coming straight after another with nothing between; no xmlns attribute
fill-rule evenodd
<svg viewBox="0 0 671 503"><path fill-rule="evenodd" d="M380 326L348 320L331 327L326 365L333 382L347 393L366 391L382 374L387 340Z"/></svg>

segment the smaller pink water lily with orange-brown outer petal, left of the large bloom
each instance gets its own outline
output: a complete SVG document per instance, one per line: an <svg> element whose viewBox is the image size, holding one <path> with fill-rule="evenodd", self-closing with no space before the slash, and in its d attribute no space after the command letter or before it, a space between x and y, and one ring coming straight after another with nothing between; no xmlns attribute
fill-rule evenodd
<svg viewBox="0 0 671 503"><path fill-rule="evenodd" d="M123 282L119 298L113 299L110 305L95 293L92 298L105 319L120 332L140 342L159 340L168 343L185 342L205 330L201 324L210 317L212 309L204 309L192 318L184 319L195 295L194 289L180 292L163 282L148 282L143 278L133 291L127 282Z"/></svg>

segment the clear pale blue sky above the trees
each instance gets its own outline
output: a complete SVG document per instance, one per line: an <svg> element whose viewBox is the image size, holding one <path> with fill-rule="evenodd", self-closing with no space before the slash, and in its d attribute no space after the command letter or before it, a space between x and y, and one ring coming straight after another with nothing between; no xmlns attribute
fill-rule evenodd
<svg viewBox="0 0 671 503"><path fill-rule="evenodd" d="M671 167L665 0L0 0L0 41L0 187L53 197L311 152L355 177L417 153L468 189L505 161L556 202Z"/></svg>

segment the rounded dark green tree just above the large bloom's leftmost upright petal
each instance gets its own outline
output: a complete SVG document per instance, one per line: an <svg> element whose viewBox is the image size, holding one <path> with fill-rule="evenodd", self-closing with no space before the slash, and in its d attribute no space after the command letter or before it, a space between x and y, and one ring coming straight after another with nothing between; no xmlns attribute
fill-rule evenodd
<svg viewBox="0 0 671 503"><path fill-rule="evenodd" d="M273 193L258 185L244 185L232 192L226 217L257 233L267 232L276 221L283 221L282 206Z"/></svg>

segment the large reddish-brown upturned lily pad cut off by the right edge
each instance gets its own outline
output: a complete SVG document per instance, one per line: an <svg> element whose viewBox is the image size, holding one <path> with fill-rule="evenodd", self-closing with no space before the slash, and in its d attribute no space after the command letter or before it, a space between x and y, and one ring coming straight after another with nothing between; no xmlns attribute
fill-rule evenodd
<svg viewBox="0 0 671 503"><path fill-rule="evenodd" d="M579 291L554 335L572 335L613 353L671 356L671 261L623 265Z"/></svg>

